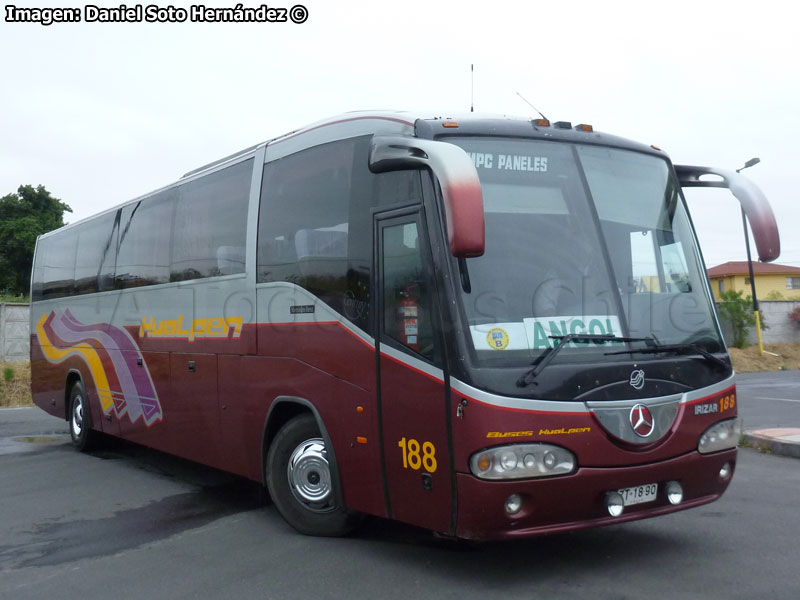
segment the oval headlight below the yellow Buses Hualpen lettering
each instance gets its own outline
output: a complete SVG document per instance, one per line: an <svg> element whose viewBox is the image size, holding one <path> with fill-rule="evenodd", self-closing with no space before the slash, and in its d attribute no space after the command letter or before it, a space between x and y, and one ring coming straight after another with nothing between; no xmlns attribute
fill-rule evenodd
<svg viewBox="0 0 800 600"><path fill-rule="evenodd" d="M514 444L472 455L469 468L481 479L529 479L568 475L577 461L569 450L551 444Z"/></svg>

